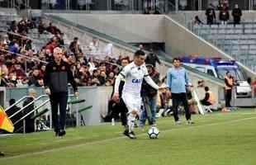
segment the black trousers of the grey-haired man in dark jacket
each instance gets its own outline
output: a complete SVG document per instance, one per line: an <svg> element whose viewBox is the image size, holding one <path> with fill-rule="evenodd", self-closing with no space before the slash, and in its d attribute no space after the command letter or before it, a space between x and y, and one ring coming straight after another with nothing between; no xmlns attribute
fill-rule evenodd
<svg viewBox="0 0 256 165"><path fill-rule="evenodd" d="M68 101L68 92L55 92L50 95L50 106L52 115L52 124L55 132L64 130L66 123L66 108ZM59 117L58 117L59 106Z"/></svg>

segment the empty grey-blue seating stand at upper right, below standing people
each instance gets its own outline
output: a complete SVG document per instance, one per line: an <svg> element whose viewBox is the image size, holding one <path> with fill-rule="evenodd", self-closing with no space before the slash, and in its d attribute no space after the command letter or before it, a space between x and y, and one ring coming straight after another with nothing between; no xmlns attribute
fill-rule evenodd
<svg viewBox="0 0 256 165"><path fill-rule="evenodd" d="M210 41L233 58L256 71L256 31L254 22L241 25L195 25L193 32Z"/></svg>

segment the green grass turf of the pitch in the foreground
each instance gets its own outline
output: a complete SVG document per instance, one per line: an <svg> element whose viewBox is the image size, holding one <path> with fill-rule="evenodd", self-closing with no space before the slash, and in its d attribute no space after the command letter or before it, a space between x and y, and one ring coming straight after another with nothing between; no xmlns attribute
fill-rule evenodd
<svg viewBox="0 0 256 165"><path fill-rule="evenodd" d="M254 165L256 111L192 115L195 125L158 120L159 139L135 130L138 139L121 134L121 125L72 128L64 138L52 131L0 138L6 157L0 164L223 164ZM146 129L145 129L146 130Z"/></svg>

